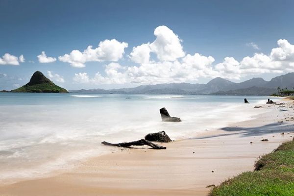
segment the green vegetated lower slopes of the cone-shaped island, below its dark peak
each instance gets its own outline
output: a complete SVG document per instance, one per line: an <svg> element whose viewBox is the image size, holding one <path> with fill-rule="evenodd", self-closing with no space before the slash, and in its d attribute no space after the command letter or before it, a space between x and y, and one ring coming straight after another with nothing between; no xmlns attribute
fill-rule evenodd
<svg viewBox="0 0 294 196"><path fill-rule="evenodd" d="M18 89L12 90L14 93L68 93L64 88L55 85L53 82L35 84L32 86L25 85Z"/></svg>

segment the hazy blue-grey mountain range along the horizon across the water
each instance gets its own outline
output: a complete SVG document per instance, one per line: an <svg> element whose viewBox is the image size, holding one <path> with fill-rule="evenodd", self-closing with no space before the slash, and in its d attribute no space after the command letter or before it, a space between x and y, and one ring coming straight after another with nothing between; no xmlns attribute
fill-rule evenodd
<svg viewBox="0 0 294 196"><path fill-rule="evenodd" d="M135 88L72 90L70 93L97 94L214 94L214 95L271 95L277 88L294 88L294 73L287 73L266 81L263 78L252 78L235 83L221 77L210 80L207 84L167 83L141 85Z"/></svg>

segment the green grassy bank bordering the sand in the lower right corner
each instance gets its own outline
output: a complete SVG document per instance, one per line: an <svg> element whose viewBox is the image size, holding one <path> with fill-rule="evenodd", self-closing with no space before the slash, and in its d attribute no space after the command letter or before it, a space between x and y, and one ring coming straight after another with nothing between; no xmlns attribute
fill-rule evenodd
<svg viewBox="0 0 294 196"><path fill-rule="evenodd" d="M294 196L294 141L262 156L255 171L224 181L209 196Z"/></svg>

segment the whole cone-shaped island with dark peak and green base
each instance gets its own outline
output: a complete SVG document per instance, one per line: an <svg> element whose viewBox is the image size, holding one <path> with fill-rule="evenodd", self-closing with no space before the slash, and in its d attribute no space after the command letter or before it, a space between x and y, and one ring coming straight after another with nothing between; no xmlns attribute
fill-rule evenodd
<svg viewBox="0 0 294 196"><path fill-rule="evenodd" d="M43 73L35 72L24 86L14 89L13 93L68 93L64 88L55 85Z"/></svg>

